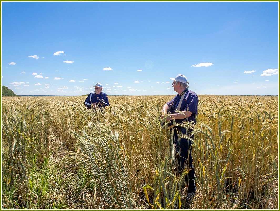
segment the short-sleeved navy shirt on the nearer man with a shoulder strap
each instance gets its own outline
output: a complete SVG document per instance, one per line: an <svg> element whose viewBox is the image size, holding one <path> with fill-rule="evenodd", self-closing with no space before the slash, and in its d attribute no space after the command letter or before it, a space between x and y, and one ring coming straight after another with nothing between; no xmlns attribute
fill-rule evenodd
<svg viewBox="0 0 280 211"><path fill-rule="evenodd" d="M191 122L193 121L196 123L196 115L197 115L197 107L198 107L198 97L197 94L194 91L187 90L186 93L184 94L185 97L183 99L183 102L181 104L180 111L190 111L192 112L192 115L186 118L186 121ZM170 111L176 111L176 108L180 102L181 95L176 95L172 100L170 100L168 103L168 107L171 106L172 102L173 105L170 109Z"/></svg>

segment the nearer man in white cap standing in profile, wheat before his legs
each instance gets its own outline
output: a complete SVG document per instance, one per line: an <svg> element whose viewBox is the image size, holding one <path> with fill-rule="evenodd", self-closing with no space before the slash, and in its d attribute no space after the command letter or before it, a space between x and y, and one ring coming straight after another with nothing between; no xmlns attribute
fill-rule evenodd
<svg viewBox="0 0 280 211"><path fill-rule="evenodd" d="M191 90L188 90L188 80L185 75L178 74L173 80L172 87L174 91L178 92L171 101L164 104L162 107L162 115L164 118L167 116L166 121L183 120L193 124L196 123L198 97L197 94ZM176 112L177 111L177 112ZM180 111L180 113L178 113ZM193 169L193 158L192 158L192 142L185 138L179 138L180 134L189 134L190 129L175 126L171 130L174 130L173 143L175 144L176 153L178 154L178 171L179 174L183 172L183 169L190 168L190 172L185 177L187 185L186 189L186 200L192 202L195 196L196 185L194 182L194 169ZM193 135L191 136L193 139Z"/></svg>

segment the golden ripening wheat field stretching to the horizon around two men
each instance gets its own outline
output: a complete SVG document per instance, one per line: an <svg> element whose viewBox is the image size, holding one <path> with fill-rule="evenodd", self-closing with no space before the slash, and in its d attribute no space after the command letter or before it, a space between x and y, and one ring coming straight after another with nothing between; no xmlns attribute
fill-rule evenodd
<svg viewBox="0 0 280 211"><path fill-rule="evenodd" d="M109 96L104 112L86 97L2 97L2 208L278 210L278 97L199 95L197 125L181 125L191 205L161 126L172 97Z"/></svg>

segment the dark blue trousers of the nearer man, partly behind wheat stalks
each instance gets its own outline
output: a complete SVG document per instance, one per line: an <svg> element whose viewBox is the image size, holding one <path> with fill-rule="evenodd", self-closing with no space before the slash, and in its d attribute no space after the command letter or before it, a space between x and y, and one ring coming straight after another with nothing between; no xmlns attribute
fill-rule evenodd
<svg viewBox="0 0 280 211"><path fill-rule="evenodd" d="M180 133L188 134L188 131L181 127L175 127L174 129L173 144L175 144L176 149L178 172L181 174L185 167L190 168L190 172L185 177L185 182L187 184L187 192L192 193L196 191L194 169L192 164L192 142L184 138L179 138ZM193 139L193 136L191 137Z"/></svg>

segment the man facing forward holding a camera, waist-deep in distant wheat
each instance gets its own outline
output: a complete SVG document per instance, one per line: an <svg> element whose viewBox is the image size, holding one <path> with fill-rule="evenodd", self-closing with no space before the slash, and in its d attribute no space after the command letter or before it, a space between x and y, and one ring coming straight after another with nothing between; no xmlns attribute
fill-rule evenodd
<svg viewBox="0 0 280 211"><path fill-rule="evenodd" d="M90 109L97 107L102 108L105 106L110 106L108 96L106 93L102 92L102 84L97 83L94 86L95 91L91 92L87 99L85 100L85 106Z"/></svg>

